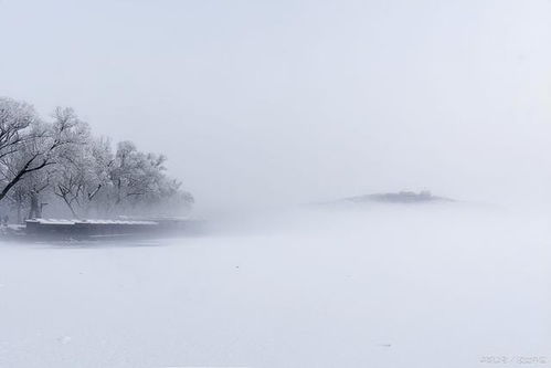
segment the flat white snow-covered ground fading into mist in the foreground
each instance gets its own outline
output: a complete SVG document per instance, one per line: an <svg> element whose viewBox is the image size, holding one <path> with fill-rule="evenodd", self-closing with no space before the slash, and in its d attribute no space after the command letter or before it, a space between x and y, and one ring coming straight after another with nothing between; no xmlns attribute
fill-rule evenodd
<svg viewBox="0 0 551 368"><path fill-rule="evenodd" d="M545 215L437 206L0 243L0 367L551 367L550 256Z"/></svg>

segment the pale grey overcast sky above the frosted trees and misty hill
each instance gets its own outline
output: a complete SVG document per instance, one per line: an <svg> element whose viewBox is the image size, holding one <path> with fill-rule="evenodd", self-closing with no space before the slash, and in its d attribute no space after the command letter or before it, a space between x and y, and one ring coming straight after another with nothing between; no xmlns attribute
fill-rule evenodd
<svg viewBox="0 0 551 368"><path fill-rule="evenodd" d="M165 153L200 208L551 188L551 2L0 0L0 95Z"/></svg>

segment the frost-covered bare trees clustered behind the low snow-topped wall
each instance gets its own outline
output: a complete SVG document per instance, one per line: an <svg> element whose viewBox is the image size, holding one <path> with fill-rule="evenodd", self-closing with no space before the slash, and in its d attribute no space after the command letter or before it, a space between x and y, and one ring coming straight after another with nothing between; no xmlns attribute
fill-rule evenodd
<svg viewBox="0 0 551 368"><path fill-rule="evenodd" d="M176 214L192 196L166 174L166 157L131 141L113 148L72 108L42 119L24 102L0 97L0 207L41 218L44 200L74 218Z"/></svg>

